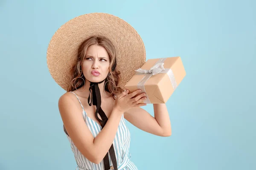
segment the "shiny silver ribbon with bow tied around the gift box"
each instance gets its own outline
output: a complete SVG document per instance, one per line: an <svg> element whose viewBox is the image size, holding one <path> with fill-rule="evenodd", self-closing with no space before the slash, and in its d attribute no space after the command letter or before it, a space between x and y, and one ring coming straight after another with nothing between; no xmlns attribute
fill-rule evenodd
<svg viewBox="0 0 256 170"><path fill-rule="evenodd" d="M169 76L169 79L171 80L171 84L172 84L172 88L173 90L175 90L177 88L177 82L175 80L175 77L174 77L174 74L172 72L172 69L170 68L164 68L163 65L164 65L164 61L166 60L167 58L160 58L154 65L153 67L151 67L149 70L145 70L145 69L137 69L135 70L136 71L136 74L135 75L142 75L142 74L145 74L145 76L140 80L140 82L138 82L137 84L137 88L141 90L141 93L145 93L146 94L146 97L147 99L145 99L143 102L144 103L148 103L150 104L150 100L148 98L148 94L146 93L146 90L145 90L145 82L148 81L148 79L150 79L151 76L153 75L156 75L156 74L165 74L167 73L168 76Z"/></svg>

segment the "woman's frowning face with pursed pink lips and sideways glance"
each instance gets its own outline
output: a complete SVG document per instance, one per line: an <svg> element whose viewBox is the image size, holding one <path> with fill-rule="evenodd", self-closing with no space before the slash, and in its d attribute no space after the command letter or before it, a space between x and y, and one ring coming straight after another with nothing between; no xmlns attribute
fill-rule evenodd
<svg viewBox="0 0 256 170"><path fill-rule="evenodd" d="M108 76L109 56L106 49L99 45L90 45L87 48L83 61L84 77L90 82L100 82ZM98 71L99 75L92 74L92 71Z"/></svg>

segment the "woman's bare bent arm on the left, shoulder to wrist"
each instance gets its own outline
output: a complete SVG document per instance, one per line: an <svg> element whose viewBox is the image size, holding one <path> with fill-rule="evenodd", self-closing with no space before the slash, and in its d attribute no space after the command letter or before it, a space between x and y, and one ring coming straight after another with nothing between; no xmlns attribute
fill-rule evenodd
<svg viewBox="0 0 256 170"><path fill-rule="evenodd" d="M94 138L84 122L76 96L68 95L70 93L62 95L58 101L61 119L67 133L89 161L99 164L113 143L122 113L113 108L105 127Z"/></svg>

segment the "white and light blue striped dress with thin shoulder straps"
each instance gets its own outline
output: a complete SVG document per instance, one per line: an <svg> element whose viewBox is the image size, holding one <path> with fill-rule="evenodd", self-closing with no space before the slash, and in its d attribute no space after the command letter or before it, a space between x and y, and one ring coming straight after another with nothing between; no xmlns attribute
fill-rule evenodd
<svg viewBox="0 0 256 170"><path fill-rule="evenodd" d="M70 91L70 92L72 92L72 91ZM73 94L75 94L75 93L73 93ZM81 108L83 110L82 114L83 114L84 122L89 127L91 133L93 134L93 137L95 138L101 131L102 126L99 125L97 122L95 122L93 119L91 119L89 116L87 116L87 113L84 111L84 107L81 104L81 101L79 100L77 95L76 95L76 98L78 99L78 101L81 105ZM95 164L95 163L89 161L76 148L73 141L70 139L70 137L68 135L67 135L67 138L70 142L71 150L74 153L76 163L78 165L76 167L76 170L77 169L78 170L104 170L104 161L103 160L99 164ZM131 159L131 154L129 153L130 132L128 130L128 127L125 125L124 115L122 115L122 118L119 122L116 136L113 141L113 147L115 149L118 170L138 170L137 167L135 166L135 164L130 160ZM109 153L108 153L108 156L109 156L110 165L112 166L113 163L111 161L111 157L110 157Z"/></svg>

